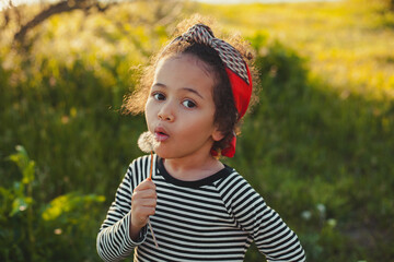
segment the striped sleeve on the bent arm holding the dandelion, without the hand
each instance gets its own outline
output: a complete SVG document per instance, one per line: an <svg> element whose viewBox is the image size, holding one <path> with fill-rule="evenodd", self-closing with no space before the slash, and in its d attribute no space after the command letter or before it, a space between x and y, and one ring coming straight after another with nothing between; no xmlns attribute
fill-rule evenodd
<svg viewBox="0 0 394 262"><path fill-rule="evenodd" d="M100 228L96 248L99 255L104 261L124 260L147 237L147 227L142 228L140 238L137 241L134 241L129 235L132 189L143 180L143 176L140 176L141 169L143 168L137 165L137 162L129 166L125 178L116 191L115 201L112 203L106 218ZM139 174L139 177L134 178L132 176L136 174Z"/></svg>

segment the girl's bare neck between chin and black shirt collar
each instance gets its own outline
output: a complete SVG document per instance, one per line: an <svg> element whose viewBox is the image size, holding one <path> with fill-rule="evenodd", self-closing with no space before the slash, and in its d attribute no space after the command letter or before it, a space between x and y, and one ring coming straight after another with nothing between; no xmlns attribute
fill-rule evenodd
<svg viewBox="0 0 394 262"><path fill-rule="evenodd" d="M199 159L170 158L163 159L163 163L172 177L183 181L197 181L224 168L224 165L210 154Z"/></svg>

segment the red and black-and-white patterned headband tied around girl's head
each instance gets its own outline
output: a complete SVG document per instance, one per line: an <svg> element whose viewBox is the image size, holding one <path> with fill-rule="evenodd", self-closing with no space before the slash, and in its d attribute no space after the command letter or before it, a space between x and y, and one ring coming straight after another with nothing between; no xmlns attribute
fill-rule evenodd
<svg viewBox="0 0 394 262"><path fill-rule="evenodd" d="M204 24L196 24L192 26L186 33L176 37L173 41L182 40L204 44L213 48L218 52L220 59L225 66L225 72L231 83L234 104L239 112L237 120L240 120L247 110L252 95L251 72L241 53L230 44L216 38L212 31ZM233 157L235 154L235 144L236 136L234 134L230 144L221 151L221 154L228 157ZM211 154L218 155L218 152L212 150Z"/></svg>

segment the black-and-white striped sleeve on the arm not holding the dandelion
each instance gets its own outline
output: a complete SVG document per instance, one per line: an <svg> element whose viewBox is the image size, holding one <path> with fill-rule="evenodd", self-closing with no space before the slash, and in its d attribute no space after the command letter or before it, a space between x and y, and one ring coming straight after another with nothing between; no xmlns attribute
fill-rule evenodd
<svg viewBox="0 0 394 262"><path fill-rule="evenodd" d="M237 172L220 183L224 205L268 261L305 261L297 235Z"/></svg>

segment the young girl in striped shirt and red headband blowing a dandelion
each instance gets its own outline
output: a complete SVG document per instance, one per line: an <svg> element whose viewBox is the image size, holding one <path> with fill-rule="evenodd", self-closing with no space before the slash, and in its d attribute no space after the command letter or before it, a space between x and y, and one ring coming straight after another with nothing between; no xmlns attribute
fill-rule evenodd
<svg viewBox="0 0 394 262"><path fill-rule="evenodd" d="M104 261L134 250L135 261L243 261L252 241L268 261L305 260L294 233L218 157L234 155L253 96L239 50L195 24L126 100L131 112L144 111L155 154L135 159L116 192L97 235Z"/></svg>

